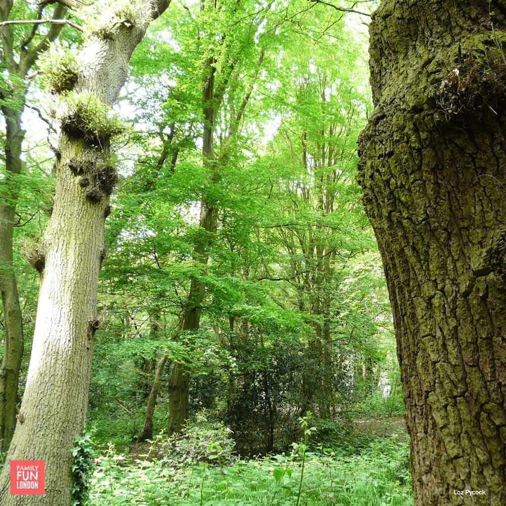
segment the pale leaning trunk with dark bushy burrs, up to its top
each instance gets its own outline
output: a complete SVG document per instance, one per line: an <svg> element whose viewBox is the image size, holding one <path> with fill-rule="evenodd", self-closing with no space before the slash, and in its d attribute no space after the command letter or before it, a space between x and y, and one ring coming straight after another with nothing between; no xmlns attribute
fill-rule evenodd
<svg viewBox="0 0 506 506"><path fill-rule="evenodd" d="M133 50L149 20L168 2L136 5L139 10L145 5L142 19L116 23L105 38L103 31L90 29L79 53L74 93L90 94L105 106L115 102ZM40 251L41 284L20 423L0 475L2 506L68 506L70 448L86 420L105 211L116 175L107 121L94 137L75 110L62 110L60 118L54 210ZM10 460L45 460L45 495L11 495Z"/></svg>

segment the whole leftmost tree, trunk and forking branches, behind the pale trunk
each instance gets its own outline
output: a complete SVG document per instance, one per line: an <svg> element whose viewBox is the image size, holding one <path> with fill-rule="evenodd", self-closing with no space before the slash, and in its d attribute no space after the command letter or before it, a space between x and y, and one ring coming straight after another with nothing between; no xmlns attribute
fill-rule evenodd
<svg viewBox="0 0 506 506"><path fill-rule="evenodd" d="M13 265L13 236L16 223L16 206L20 191L17 177L22 172L21 148L25 138L21 117L25 108L26 94L30 80L28 75L41 53L49 49L62 24L53 24L45 35L39 34L39 26L33 25L28 31L16 31L8 22L14 15L29 15L26 6L13 2L0 2L0 70L5 81L0 84L0 108L5 120L5 174L0 187L0 291L5 320L4 356L0 367L0 450L7 451L16 425L16 404L21 359L23 357L23 322L19 305L18 287ZM61 19L66 12L58 5L53 19ZM44 13L44 6L38 9L38 17Z"/></svg>

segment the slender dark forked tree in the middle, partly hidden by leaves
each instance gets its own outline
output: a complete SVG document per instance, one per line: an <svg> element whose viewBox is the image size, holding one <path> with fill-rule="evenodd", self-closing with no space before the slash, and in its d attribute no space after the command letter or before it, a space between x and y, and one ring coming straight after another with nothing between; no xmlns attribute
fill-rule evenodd
<svg viewBox="0 0 506 506"><path fill-rule="evenodd" d="M203 2L201 4L201 19L209 16L211 19L220 12L226 13L226 19L241 18L239 4L234 3L229 6L224 3L217 6L214 2ZM243 13L242 13L243 15ZM243 16L242 16L243 17ZM241 64L244 64L244 51L237 51L239 44L250 47L254 44L256 30L262 20L257 20L254 29L248 28L244 35L244 25L239 24L237 33L227 33L224 25L218 22L216 25L209 23L206 26L206 37L204 40L204 59L202 65L202 163L208 174L208 185L212 189L220 178L220 170L226 164L232 143L236 141L236 135L240 130L240 123L243 118L245 108L253 91L253 87L258 78L262 62L264 60L264 50L260 50L260 55L253 69L253 75L249 78L246 85L246 91L242 101L239 103L234 113L228 114L227 124L224 131L221 132L219 153L215 152L215 136L217 133L217 116L220 108L226 99L225 95L229 91L233 75L241 70ZM207 23L206 23L207 25ZM234 40L234 36L236 39ZM218 52L215 49L214 40L221 39ZM247 53L246 53L247 54ZM219 60L225 60L220 63ZM232 104L229 104L232 105ZM213 201L212 191L201 195L199 233L196 236L194 245L194 258L203 266L209 261L209 247L212 244L213 233L216 228L218 216L218 204ZM200 277L193 277L190 283L188 293L188 304L183 316L183 332L196 331L200 325L201 307L205 294L205 282ZM175 362L171 371L170 381L170 434L181 430L185 420L189 416L189 374L184 366Z"/></svg>

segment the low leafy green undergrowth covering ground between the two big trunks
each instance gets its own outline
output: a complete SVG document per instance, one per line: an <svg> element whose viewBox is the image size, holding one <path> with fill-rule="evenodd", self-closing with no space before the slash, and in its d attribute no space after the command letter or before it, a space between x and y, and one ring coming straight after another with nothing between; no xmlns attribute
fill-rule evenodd
<svg viewBox="0 0 506 506"><path fill-rule="evenodd" d="M154 447L155 444L152 445ZM297 445L296 445L297 446ZM96 460L88 506L288 506L298 503L302 459L289 453L224 463L219 445L206 462L167 455L117 454L112 445ZM394 434L360 453L307 451L300 505L408 506L412 504L408 442Z"/></svg>

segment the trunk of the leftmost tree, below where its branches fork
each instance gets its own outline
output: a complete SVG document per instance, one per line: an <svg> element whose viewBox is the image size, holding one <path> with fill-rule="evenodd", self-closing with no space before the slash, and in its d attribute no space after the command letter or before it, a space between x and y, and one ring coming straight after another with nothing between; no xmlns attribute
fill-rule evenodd
<svg viewBox="0 0 506 506"><path fill-rule="evenodd" d="M10 175L21 173L21 146L25 132L21 114L3 108L6 119L6 168ZM23 323L13 265L13 234L17 202L15 182L0 194L0 291L5 321L4 356L0 367L0 450L6 452L16 427L19 371L23 358Z"/></svg>

